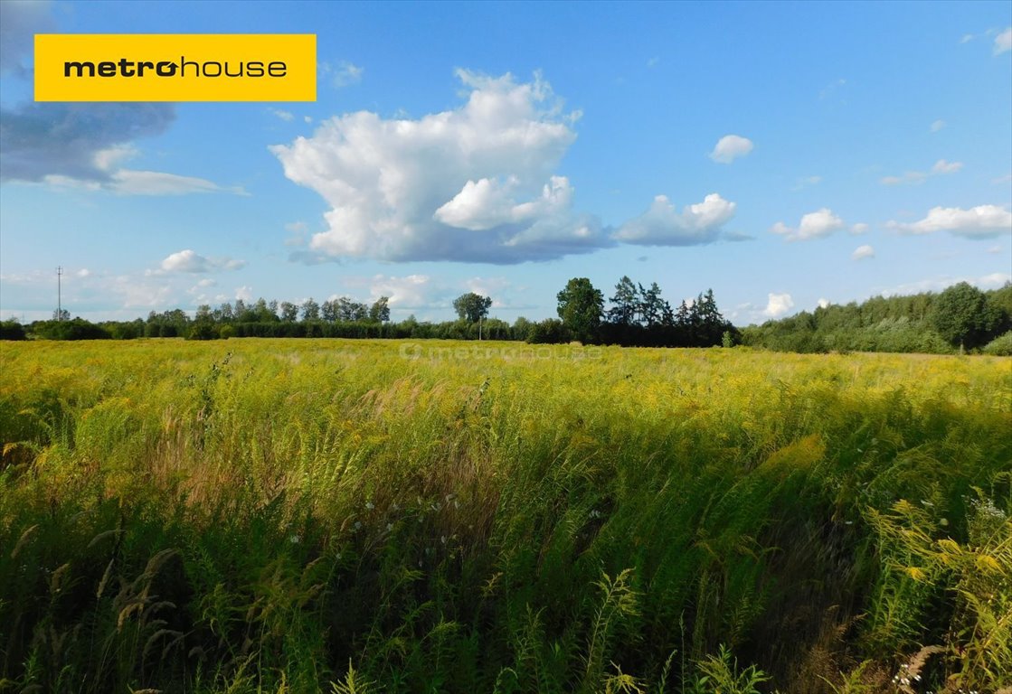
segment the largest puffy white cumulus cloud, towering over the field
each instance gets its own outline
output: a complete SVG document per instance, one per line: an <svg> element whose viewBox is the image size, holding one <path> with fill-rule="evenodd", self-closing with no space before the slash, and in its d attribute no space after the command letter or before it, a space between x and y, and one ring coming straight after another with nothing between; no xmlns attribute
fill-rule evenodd
<svg viewBox="0 0 1012 694"><path fill-rule="evenodd" d="M285 176L331 205L310 255L515 263L612 245L596 216L573 211L574 188L555 175L576 116L552 87L539 76L456 74L469 95L453 110L349 113L270 148Z"/></svg>

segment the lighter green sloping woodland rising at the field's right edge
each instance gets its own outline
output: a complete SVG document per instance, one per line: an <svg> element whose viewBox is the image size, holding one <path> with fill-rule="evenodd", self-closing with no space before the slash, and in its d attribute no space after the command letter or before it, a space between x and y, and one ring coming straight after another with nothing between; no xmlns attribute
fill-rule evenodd
<svg viewBox="0 0 1012 694"><path fill-rule="evenodd" d="M749 326L742 343L783 352L983 352L1012 355L1012 283L982 291L875 296Z"/></svg>

